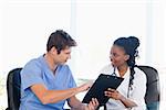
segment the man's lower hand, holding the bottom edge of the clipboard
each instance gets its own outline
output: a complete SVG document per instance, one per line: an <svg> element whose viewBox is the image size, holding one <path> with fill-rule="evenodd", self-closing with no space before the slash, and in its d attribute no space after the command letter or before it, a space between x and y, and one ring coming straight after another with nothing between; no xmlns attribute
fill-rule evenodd
<svg viewBox="0 0 166 110"><path fill-rule="evenodd" d="M96 110L97 107L98 107L97 99L96 98L92 98L90 103L85 107L85 110Z"/></svg>

